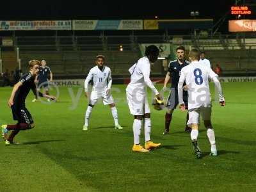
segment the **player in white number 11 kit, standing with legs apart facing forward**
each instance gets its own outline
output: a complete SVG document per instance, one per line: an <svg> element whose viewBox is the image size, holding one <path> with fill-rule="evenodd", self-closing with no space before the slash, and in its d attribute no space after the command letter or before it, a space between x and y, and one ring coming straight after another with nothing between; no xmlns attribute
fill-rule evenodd
<svg viewBox="0 0 256 192"><path fill-rule="evenodd" d="M123 129L118 124L118 115L117 109L115 107L115 102L111 95L111 85L112 85L112 77L111 70L109 67L104 66L105 57L103 55L98 55L96 57L96 66L91 68L88 76L84 81L84 93L85 97L90 98L88 107L86 109L85 117L84 117L84 127L83 130L88 130L89 118L92 113L93 106L97 103L97 100L102 98L103 104L108 105L111 109L114 122L115 129ZM92 93L89 95L88 93L88 84L90 81L93 81Z"/></svg>

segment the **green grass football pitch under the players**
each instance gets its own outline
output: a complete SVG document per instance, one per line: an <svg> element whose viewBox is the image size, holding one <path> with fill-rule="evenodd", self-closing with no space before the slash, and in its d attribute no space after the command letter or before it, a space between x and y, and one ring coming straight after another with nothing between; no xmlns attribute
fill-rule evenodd
<svg viewBox="0 0 256 192"><path fill-rule="evenodd" d="M162 145L146 154L132 152L133 117L124 85L114 84L112 92L123 130L113 128L111 111L102 102L93 108L88 131L82 130L87 106L82 88L59 88L59 102L52 104L33 103L29 93L26 106L36 127L19 132L20 145L0 143L0 191L254 191L256 84L222 86L227 106L213 102L212 108L219 156L209 156L201 125L202 159L193 154L190 134L184 132L186 113L179 110L170 134L163 136L165 111L151 109L152 140ZM0 124L16 123L7 106L11 90L0 88ZM141 143L143 138L142 131Z"/></svg>

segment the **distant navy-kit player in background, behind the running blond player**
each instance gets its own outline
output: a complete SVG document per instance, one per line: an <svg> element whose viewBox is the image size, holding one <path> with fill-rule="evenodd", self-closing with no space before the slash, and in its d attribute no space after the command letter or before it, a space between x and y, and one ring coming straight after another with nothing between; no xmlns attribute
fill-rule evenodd
<svg viewBox="0 0 256 192"><path fill-rule="evenodd" d="M42 66L39 68L38 76L35 78L35 83L37 83L37 90L40 91L40 88L44 88L44 93L49 95L49 81L48 76L50 75L50 82L52 81L52 72L50 67L46 66L46 61L41 61ZM32 102L35 102L37 99L37 96L35 99L32 100ZM48 101L50 101L48 99Z"/></svg>

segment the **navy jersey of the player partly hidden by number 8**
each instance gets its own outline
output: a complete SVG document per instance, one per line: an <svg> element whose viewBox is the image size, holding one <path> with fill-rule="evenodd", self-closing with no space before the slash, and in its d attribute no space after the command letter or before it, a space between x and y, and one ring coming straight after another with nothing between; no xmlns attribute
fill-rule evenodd
<svg viewBox="0 0 256 192"><path fill-rule="evenodd" d="M189 61L186 60L182 64L180 64L178 60L169 63L168 72L170 72L170 76L172 77L172 88L178 89L180 71L187 65L189 65Z"/></svg>

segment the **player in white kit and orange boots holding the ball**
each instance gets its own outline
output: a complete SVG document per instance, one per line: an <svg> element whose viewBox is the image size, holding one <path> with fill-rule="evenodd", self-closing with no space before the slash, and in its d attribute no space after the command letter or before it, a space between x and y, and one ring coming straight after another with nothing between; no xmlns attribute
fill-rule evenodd
<svg viewBox="0 0 256 192"><path fill-rule="evenodd" d="M150 63L154 63L159 54L159 49L155 45L150 45L146 48L145 56L140 58L131 68L131 82L126 88L126 97L131 115L134 115L133 135L134 152L149 152L150 149L159 147L161 143L153 143L150 140L151 120L150 108L147 99L147 86L154 92L156 97L160 97L159 92L154 87L154 84L149 79ZM144 119L145 123L145 148L140 145L141 126Z"/></svg>

